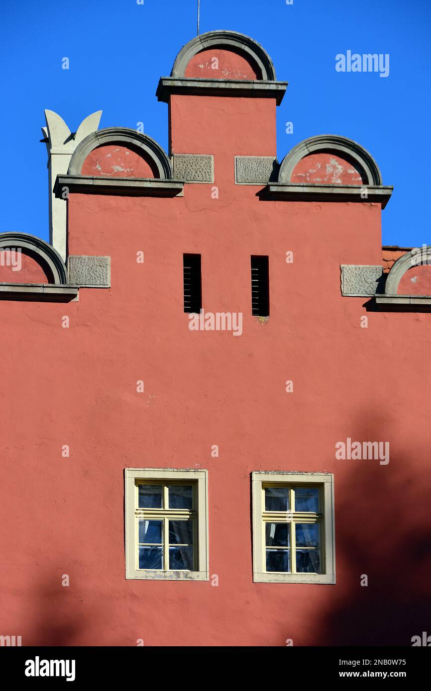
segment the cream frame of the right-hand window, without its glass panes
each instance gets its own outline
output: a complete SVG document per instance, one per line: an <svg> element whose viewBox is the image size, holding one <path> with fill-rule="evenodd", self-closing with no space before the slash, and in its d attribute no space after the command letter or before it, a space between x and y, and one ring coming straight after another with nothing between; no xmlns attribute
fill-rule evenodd
<svg viewBox="0 0 431 691"><path fill-rule="evenodd" d="M292 574L265 570L266 538L263 514L266 513L264 508L264 486L266 485L319 486L319 502L323 504L323 506L319 506L319 511L323 513L320 522L320 535L322 536L320 556L324 564L323 574ZM253 581L255 583L320 583L327 585L336 583L333 473L255 471L252 473L252 504Z"/></svg>

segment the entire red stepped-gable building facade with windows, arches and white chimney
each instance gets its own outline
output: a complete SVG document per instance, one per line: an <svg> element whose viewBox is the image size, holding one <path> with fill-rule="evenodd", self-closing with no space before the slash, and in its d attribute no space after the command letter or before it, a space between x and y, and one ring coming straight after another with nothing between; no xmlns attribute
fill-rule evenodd
<svg viewBox="0 0 431 691"><path fill-rule="evenodd" d="M382 252L392 187L356 142L279 164L286 86L210 32L158 85L168 153L47 111L51 244L0 234L1 635L426 629L428 247Z"/></svg>

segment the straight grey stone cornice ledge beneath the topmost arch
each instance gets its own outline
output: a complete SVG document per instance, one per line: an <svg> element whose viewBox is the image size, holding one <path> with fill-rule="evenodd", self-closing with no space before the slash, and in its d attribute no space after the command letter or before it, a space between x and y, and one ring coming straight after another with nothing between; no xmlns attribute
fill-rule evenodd
<svg viewBox="0 0 431 691"><path fill-rule="evenodd" d="M262 79L203 79L201 77L161 77L156 96L169 102L172 93L202 96L246 96L275 98L277 106L286 93L287 82Z"/></svg>

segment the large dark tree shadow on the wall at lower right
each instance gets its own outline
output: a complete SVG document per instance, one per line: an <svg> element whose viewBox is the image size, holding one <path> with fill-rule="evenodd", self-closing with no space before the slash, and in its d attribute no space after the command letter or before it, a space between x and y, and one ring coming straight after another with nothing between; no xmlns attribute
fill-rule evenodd
<svg viewBox="0 0 431 691"><path fill-rule="evenodd" d="M311 645L410 646L412 636L431 634L426 440L412 436L411 447L400 451L386 424L371 427L365 422L351 439L389 441L389 464L336 461L337 585L315 618ZM338 479L341 465L351 472ZM364 576L367 586L360 585Z"/></svg>

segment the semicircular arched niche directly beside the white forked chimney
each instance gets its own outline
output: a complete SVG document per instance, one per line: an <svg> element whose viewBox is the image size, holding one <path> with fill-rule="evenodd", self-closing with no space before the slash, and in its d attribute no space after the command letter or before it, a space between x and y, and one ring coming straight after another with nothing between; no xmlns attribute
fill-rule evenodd
<svg viewBox="0 0 431 691"><path fill-rule="evenodd" d="M73 152L68 175L171 180L172 167L160 144L127 127L92 132Z"/></svg>

